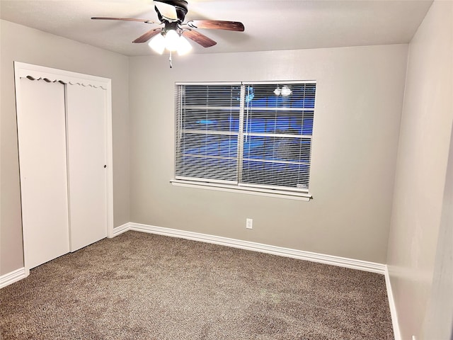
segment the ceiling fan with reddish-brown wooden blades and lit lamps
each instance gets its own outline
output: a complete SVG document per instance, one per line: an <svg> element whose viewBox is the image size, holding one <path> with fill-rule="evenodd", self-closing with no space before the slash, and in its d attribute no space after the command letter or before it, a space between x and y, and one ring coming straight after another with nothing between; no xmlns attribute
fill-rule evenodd
<svg viewBox="0 0 453 340"><path fill-rule="evenodd" d="M185 15L188 12L188 2L185 0L154 0L154 9L156 10L159 22L151 21L148 19L137 18L103 18L93 17L93 20L119 20L119 21L139 21L142 23L151 23L156 25L163 25L161 28L152 28L146 33L139 36L132 42L147 42L151 40L150 46L160 54L167 50L176 51L180 48L181 53L191 48L190 44L183 42L189 38L197 42L202 47L211 47L217 44L211 38L194 30L194 28L203 28L211 30L236 30L242 32L244 30L243 24L238 21L220 21L220 20L190 20L184 21ZM152 38L152 39L151 39ZM185 48L184 48L185 46ZM178 50L179 52L179 50Z"/></svg>

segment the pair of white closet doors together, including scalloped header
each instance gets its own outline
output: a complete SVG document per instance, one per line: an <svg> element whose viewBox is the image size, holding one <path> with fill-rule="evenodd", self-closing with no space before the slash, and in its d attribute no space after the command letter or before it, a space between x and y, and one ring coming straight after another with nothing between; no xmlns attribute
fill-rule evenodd
<svg viewBox="0 0 453 340"><path fill-rule="evenodd" d="M112 228L110 79L15 65L28 270Z"/></svg>

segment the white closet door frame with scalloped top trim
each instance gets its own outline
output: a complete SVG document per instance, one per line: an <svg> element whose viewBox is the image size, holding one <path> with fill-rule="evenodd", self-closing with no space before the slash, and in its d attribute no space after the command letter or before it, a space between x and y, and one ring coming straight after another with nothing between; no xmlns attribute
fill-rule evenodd
<svg viewBox="0 0 453 340"><path fill-rule="evenodd" d="M107 203L107 237L113 237L113 133L112 133L112 81L108 78L92 76L76 72L54 69L52 67L43 67L23 62L14 62L14 81L16 88L16 118L21 119L21 78L29 77L30 79L44 79L46 81L60 81L65 86L67 84L80 84L83 86L101 87L106 91L106 108L105 108L105 155L107 159L106 168L106 203ZM20 135L18 134L18 139ZM20 153L20 150L19 150ZM22 210L22 207L21 207ZM23 212L21 211L21 215ZM23 264L25 276L30 273L29 256L27 252L28 230L27 226L22 223L23 237ZM69 230L70 232L70 230Z"/></svg>

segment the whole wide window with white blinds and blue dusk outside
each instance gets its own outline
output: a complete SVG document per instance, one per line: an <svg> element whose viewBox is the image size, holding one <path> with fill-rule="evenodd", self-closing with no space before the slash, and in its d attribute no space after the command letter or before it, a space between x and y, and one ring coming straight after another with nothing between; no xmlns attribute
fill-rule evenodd
<svg viewBox="0 0 453 340"><path fill-rule="evenodd" d="M176 183L309 198L314 81L176 84Z"/></svg>

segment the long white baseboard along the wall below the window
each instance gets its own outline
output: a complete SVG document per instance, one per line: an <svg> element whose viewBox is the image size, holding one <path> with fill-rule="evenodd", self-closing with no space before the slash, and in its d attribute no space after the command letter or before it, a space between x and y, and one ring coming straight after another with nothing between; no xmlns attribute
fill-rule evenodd
<svg viewBox="0 0 453 340"><path fill-rule="evenodd" d="M382 263L374 263L355 259L347 259L340 256L332 256L325 254L312 253L311 251L303 251L297 249L283 248L281 246L271 246L268 244L260 244L256 242L242 241L240 239L229 239L227 237L214 236L209 234L200 234L198 232L187 232L185 230L170 229L164 227L155 227L152 225L142 225L139 223L127 223L114 229L113 234L121 234L127 230L137 232L147 232L150 234L160 234L170 237L179 237L181 239L191 239L194 241L219 244L222 246L231 246L234 248L260 251L262 253L291 257L304 261L313 261L318 263L330 264L345 268L357 269L360 271L369 271L384 275L386 266Z"/></svg>

